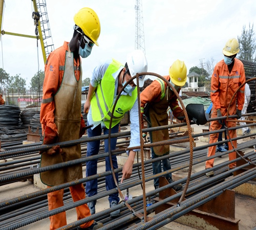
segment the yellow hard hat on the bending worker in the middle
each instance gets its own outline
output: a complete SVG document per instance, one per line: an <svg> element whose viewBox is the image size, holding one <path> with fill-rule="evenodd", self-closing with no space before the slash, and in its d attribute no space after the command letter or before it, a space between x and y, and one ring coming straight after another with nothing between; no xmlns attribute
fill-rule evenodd
<svg viewBox="0 0 256 230"><path fill-rule="evenodd" d="M187 80L187 67L184 61L177 59L169 68L170 80L178 86L183 86Z"/></svg>

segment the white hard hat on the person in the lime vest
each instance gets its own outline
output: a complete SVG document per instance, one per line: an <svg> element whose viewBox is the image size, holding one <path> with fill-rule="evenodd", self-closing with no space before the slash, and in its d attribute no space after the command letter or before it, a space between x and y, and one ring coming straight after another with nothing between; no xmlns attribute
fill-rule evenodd
<svg viewBox="0 0 256 230"><path fill-rule="evenodd" d="M135 50L132 53L128 54L126 62L132 77L135 76L137 73L147 72L147 60L141 50ZM144 78L145 75L139 76L139 87L143 87ZM133 79L133 81L137 85L136 78Z"/></svg>

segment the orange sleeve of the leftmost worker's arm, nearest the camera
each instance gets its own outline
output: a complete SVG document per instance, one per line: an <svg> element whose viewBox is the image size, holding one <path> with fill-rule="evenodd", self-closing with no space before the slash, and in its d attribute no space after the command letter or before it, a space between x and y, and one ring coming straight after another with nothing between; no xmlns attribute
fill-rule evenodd
<svg viewBox="0 0 256 230"><path fill-rule="evenodd" d="M45 65L45 80L42 93L42 102L40 110L40 123L42 124L42 132L44 134L45 126L49 126L54 131L57 127L54 123L54 95L59 88L59 55L55 52L51 53Z"/></svg>

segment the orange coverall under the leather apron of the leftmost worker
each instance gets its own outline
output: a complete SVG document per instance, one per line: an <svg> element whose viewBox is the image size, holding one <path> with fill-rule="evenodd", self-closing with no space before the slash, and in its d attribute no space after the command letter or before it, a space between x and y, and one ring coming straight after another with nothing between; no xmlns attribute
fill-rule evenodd
<svg viewBox="0 0 256 230"><path fill-rule="evenodd" d="M42 134L46 126L57 131L54 123L55 103L54 95L57 93L64 74L66 51L68 51L68 42L64 42L63 46L51 52L45 65L45 80L43 86L42 104L40 110L40 122L42 124ZM75 76L78 80L80 78L80 63L74 59ZM51 157L51 156L50 156ZM50 187L48 187L50 188ZM49 210L53 210L63 206L63 189L48 193ZM74 201L86 198L84 186L82 183L70 187L70 193ZM76 208L77 219L82 219L90 216L90 210L87 204L80 205ZM56 229L67 225L66 212L62 212L50 217L50 229ZM81 224L82 228L89 227L94 220Z"/></svg>

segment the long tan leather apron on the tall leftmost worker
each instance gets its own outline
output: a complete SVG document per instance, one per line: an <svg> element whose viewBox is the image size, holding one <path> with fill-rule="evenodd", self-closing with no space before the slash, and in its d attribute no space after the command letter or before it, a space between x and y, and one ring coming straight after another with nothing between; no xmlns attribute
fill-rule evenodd
<svg viewBox="0 0 256 230"><path fill-rule="evenodd" d="M79 139L81 124L81 76L77 81L74 75L74 55L66 52L65 71L61 86L54 96L55 101L55 124L58 129L58 142L72 141ZM81 67L81 65L80 65ZM58 163L68 162L81 158L80 144L62 148L62 152L55 155L48 155L46 152L41 155L41 167ZM45 185L56 186L61 183L70 182L82 178L82 165L74 165L57 170L40 173L40 178Z"/></svg>

